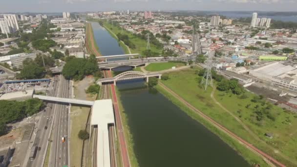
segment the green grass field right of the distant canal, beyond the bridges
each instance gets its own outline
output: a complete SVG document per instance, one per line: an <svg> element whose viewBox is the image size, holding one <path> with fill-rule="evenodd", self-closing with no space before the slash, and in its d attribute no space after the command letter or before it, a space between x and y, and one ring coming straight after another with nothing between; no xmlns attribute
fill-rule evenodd
<svg viewBox="0 0 297 167"><path fill-rule="evenodd" d="M126 30L123 30L122 31L122 29L120 28L120 27L116 27L116 26L113 26L113 25L111 25L111 24L109 24L107 21L104 21L104 26L108 29L108 30L110 30L110 31L112 31L115 35L116 34L118 34L118 33L121 33L121 34L126 34L128 37L129 37L129 40L132 42L132 43L134 43L135 44L135 48L134 49L132 49L132 48L130 48L131 49L131 53L139 53L139 54L142 54L142 52L144 51L144 50L146 50L147 48L147 41L146 40L142 40L142 39L140 39L140 38L138 38L138 37L136 37L136 36L133 36L133 34L131 33L131 32L128 32L128 31L126 31ZM114 34L112 34L112 33L110 33L115 39L117 39L117 37L114 35ZM121 44L121 43L120 43ZM123 43L122 43L123 44ZM121 44L121 46L122 46L122 44ZM122 46L123 47L123 46ZM125 47L123 47L123 48L125 48ZM152 43L150 43L150 48L151 48L151 51L153 51L153 52L159 52L159 53L161 53L161 51L162 51L162 49L157 49L156 48L156 46L154 45L154 44L152 44ZM125 53L127 52L127 50L125 50Z"/></svg>

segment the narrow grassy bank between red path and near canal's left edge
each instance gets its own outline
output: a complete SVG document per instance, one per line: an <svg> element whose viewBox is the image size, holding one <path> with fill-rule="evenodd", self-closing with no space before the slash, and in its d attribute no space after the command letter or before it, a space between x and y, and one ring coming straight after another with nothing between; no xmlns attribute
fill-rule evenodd
<svg viewBox="0 0 297 167"><path fill-rule="evenodd" d="M139 167L137 158L134 152L133 136L131 134L130 127L128 125L128 117L127 117L127 114L125 113L125 109L121 102L121 93L118 90L118 88L116 88L116 94L117 94L119 110L122 118L122 124L124 126L124 133L125 133L125 139L127 142L126 144L127 144L128 154L129 154L130 165L131 167Z"/></svg>

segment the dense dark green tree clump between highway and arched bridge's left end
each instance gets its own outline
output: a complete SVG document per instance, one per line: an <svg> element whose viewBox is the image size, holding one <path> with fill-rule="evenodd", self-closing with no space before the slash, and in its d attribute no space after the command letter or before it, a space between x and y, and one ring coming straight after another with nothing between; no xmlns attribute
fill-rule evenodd
<svg viewBox="0 0 297 167"><path fill-rule="evenodd" d="M98 64L95 55L89 58L68 57L62 74L66 79L82 80L86 75L95 74L98 71Z"/></svg>

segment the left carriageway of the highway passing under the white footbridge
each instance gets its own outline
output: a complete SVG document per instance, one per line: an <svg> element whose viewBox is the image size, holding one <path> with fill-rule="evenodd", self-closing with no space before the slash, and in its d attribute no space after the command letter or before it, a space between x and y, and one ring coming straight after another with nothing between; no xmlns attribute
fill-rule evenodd
<svg viewBox="0 0 297 167"><path fill-rule="evenodd" d="M56 80L56 81L55 81ZM49 92L47 95L56 96L58 94L58 78L54 79L55 82L49 85ZM45 157L47 142L49 141L50 126L53 121L54 108L56 104L48 103L47 107L41 111L41 118L38 121L38 130L36 132L36 137L34 145L39 147L36 157L33 161L28 160L27 167L42 167L43 160ZM30 149L30 148L28 148ZM28 153L31 151L28 150Z"/></svg>

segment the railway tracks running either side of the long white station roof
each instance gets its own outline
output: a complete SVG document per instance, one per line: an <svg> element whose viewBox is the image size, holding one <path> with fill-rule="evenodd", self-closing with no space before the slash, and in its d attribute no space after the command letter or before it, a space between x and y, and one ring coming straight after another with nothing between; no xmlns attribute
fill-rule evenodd
<svg viewBox="0 0 297 167"><path fill-rule="evenodd" d="M108 74L106 71L103 71L103 75L106 78ZM102 85L100 99L110 99L110 86ZM94 128L94 156L93 156L93 167L97 167L97 134L98 128ZM108 126L108 135L109 135L109 146L110 146L110 164L111 167L117 167L116 162L116 147L115 147L115 128L114 125Z"/></svg>

